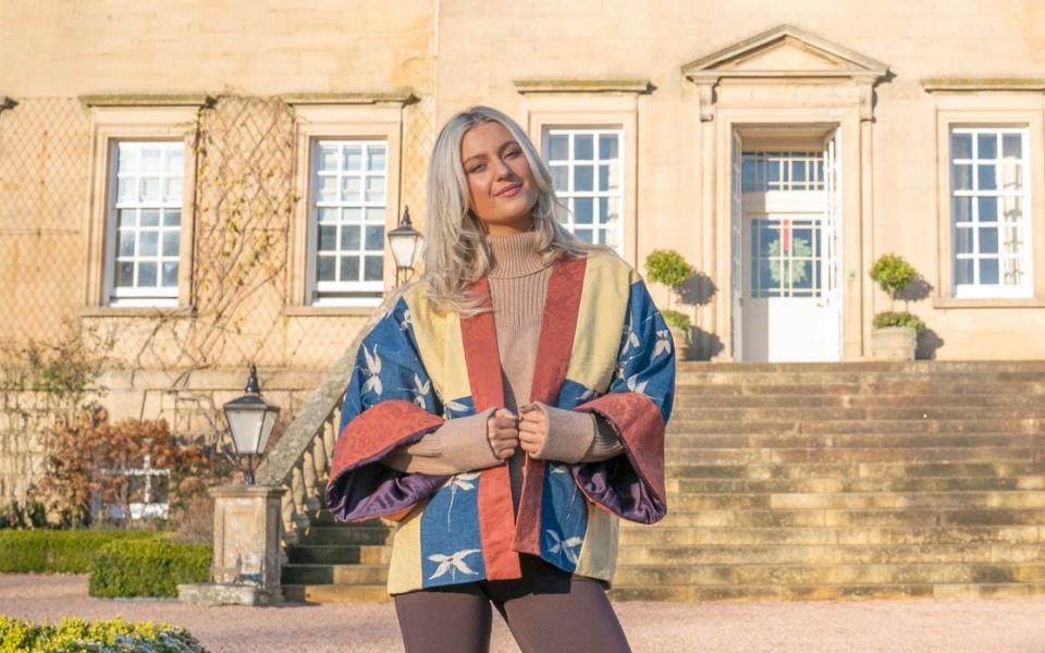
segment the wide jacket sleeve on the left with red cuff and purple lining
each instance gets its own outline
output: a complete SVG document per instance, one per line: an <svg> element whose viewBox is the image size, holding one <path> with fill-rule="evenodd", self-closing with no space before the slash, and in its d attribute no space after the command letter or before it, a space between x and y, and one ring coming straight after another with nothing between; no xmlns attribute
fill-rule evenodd
<svg viewBox="0 0 1045 653"><path fill-rule="evenodd" d="M450 479L402 472L381 463L392 449L419 441L443 423L413 329L409 308L401 299L359 345L327 483L327 507L336 520L399 520Z"/></svg>

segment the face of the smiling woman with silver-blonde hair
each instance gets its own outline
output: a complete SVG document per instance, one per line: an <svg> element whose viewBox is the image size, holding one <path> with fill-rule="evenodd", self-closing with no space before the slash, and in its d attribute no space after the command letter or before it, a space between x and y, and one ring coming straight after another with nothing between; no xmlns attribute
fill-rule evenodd
<svg viewBox="0 0 1045 653"><path fill-rule="evenodd" d="M539 195L522 147L499 122L465 132L460 160L468 180L468 206L491 235L529 231Z"/></svg>

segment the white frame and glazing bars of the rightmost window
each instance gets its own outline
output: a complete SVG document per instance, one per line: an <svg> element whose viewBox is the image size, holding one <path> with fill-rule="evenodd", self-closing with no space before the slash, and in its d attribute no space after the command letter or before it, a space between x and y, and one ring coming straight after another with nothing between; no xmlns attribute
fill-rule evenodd
<svg viewBox="0 0 1045 653"><path fill-rule="evenodd" d="M952 145L954 137L956 134L968 134L971 137L971 158L968 159L958 159L955 156ZM1003 146L998 146L996 157L991 159L995 161L995 180L996 187L993 190L981 190L976 186L979 185L979 171L978 163L980 161L986 161L987 159L980 159L979 157L979 136L981 134L991 134L993 136L1004 136L1017 134L1020 136L1021 145L1021 159L1020 164L1022 165L1022 188L1019 192L1005 190L998 186L1001 180L1001 149ZM964 298L983 298L983 297L1031 297L1033 296L1033 241L1031 238L1031 225L1032 222L1032 204L1031 204L1031 178L1033 174L1033 168L1031 164L1030 156L1030 130L1026 125L1020 126L1000 126L1000 125L950 125L948 130L948 168L949 168L949 190L950 190L950 201L948 202L948 212L950 214L950 238L951 238L951 285L954 287L954 297L959 299ZM957 168L958 165L970 165L972 168L972 185L971 189L958 189L956 188L957 183ZM957 250L957 241L958 241L958 223L957 215L955 215L955 199L958 197L970 197L972 198L971 208L972 214L967 224L968 227L972 229L973 235L973 251L971 254L959 254ZM998 198L998 208L995 224L997 225L997 239L998 239L998 251L997 256L987 256L982 257L979 252L979 242L981 235L981 229L978 227L979 224L979 211L980 202L976 201L980 197L997 197ZM1018 258L1020 262L1020 269L1022 278L1019 284L1006 284L1005 283L1005 271L1003 259L1004 249L1005 249L1005 235L1004 226L1005 221L1003 220L1003 201L1004 197L1019 197L1021 198L1023 206L1023 214L1020 221L1020 242L1023 247L1020 250L1020 256ZM997 284L959 284L957 281L958 276L958 261L959 260L972 260L973 261L973 275L979 276L980 274L980 264L979 262L982 259L993 259L998 260L998 280ZM1012 257L1009 257L1012 258Z"/></svg>

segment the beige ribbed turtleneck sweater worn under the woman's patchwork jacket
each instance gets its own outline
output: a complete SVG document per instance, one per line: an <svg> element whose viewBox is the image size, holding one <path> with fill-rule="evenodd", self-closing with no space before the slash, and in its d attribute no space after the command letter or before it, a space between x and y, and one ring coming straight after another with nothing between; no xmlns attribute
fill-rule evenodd
<svg viewBox="0 0 1045 653"><path fill-rule="evenodd" d="M530 402L533 364L544 315L544 297L552 266L537 251L538 232L487 236L493 258L487 274L493 304L497 349L504 384L504 406L518 416ZM537 457L564 463L606 460L624 448L613 427L591 412L540 405L548 416L548 440ZM393 449L382 463L399 471L458 473L500 465L487 435L487 421L497 409L447 420L419 442ZM526 452L516 448L508 459L512 495L518 510Z"/></svg>

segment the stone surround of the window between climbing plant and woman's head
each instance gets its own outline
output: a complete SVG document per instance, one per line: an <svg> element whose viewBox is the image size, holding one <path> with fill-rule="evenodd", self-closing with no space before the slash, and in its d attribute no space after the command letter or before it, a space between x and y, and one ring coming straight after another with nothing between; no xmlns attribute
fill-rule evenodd
<svg viewBox="0 0 1045 653"><path fill-rule="evenodd" d="M307 304L308 229L311 188L310 155L312 143L320 138L380 139L388 144L385 177L385 234L398 226L401 206L399 173L402 168L403 108L416 101L409 91L321 94L284 96L296 115L296 172L294 187L298 197L291 218L287 266L288 316L367 316L373 306L312 306ZM385 239L385 296L393 289L395 261Z"/></svg>

